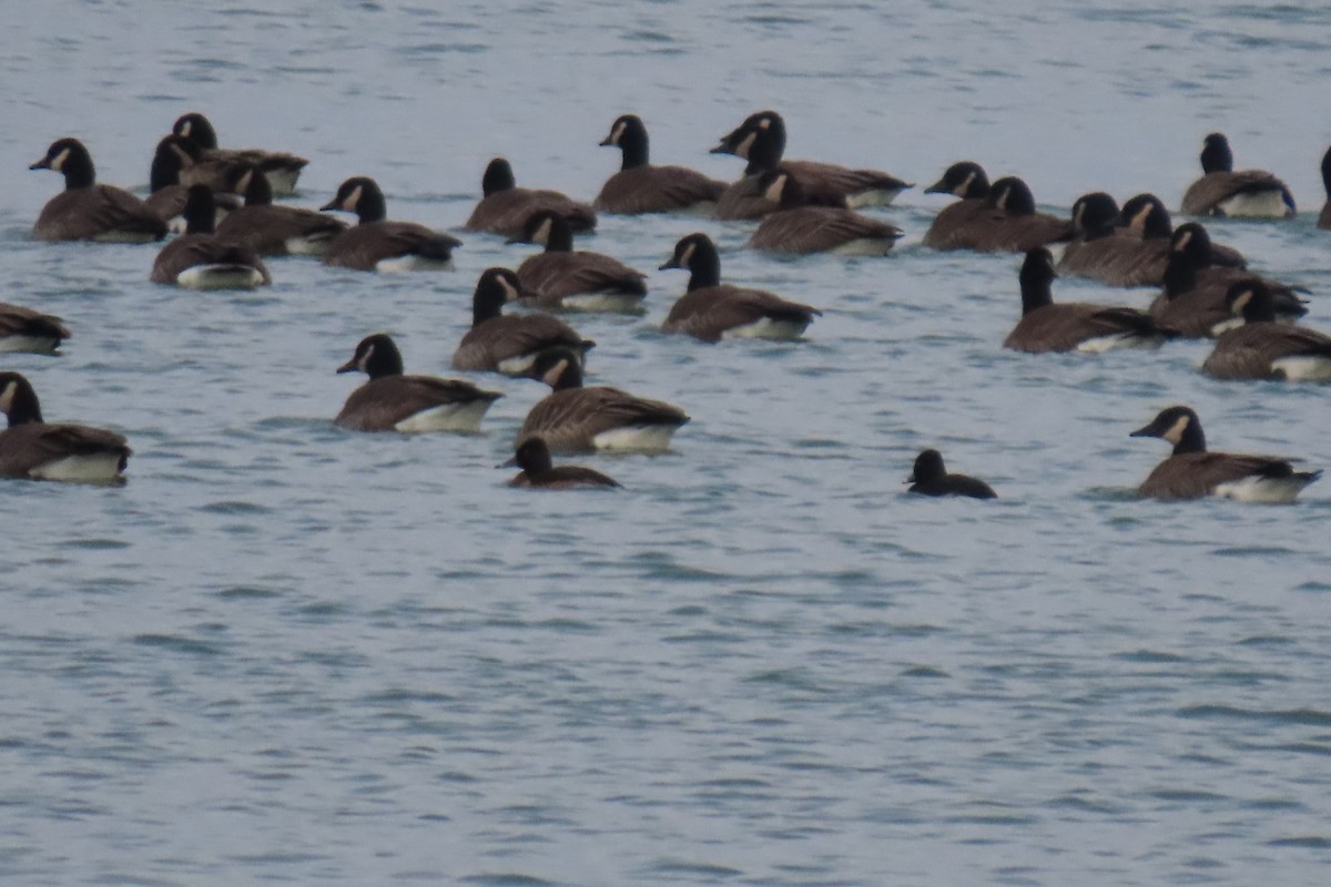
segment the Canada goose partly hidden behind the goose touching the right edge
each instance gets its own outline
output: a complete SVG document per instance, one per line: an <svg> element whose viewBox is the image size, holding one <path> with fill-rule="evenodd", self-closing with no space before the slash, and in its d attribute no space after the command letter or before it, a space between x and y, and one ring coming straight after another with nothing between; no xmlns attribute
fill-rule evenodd
<svg viewBox="0 0 1331 887"><path fill-rule="evenodd" d="M1251 271L1207 265L1210 243L1210 235L1198 222L1187 222L1174 230L1165 267L1165 290L1150 306L1151 317L1162 326L1190 338L1218 335L1234 323L1234 315L1225 303L1230 286L1254 279L1270 290L1278 318L1294 319L1307 314L1292 287L1259 278Z"/></svg>

